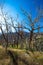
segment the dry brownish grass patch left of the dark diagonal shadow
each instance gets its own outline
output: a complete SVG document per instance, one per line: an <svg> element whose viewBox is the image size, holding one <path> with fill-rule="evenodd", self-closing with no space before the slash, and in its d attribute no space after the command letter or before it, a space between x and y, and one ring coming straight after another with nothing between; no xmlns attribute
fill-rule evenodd
<svg viewBox="0 0 43 65"><path fill-rule="evenodd" d="M0 65L9 65L10 57L6 54L4 48L0 47Z"/></svg>

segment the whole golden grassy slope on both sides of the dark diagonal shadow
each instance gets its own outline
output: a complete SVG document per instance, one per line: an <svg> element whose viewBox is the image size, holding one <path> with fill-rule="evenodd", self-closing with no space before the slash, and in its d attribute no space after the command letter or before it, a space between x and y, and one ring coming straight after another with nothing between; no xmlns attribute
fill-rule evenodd
<svg viewBox="0 0 43 65"><path fill-rule="evenodd" d="M13 55L18 56L16 61L18 65L43 65L43 52L30 52L20 49L8 49L11 50ZM11 61L12 62L12 61ZM10 57L5 53L4 49L0 47L0 65L11 65Z"/></svg>

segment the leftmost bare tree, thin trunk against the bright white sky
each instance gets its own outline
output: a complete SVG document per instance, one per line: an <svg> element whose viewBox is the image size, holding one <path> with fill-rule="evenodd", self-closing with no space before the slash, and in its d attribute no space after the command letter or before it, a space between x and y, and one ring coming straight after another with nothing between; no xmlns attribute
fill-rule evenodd
<svg viewBox="0 0 43 65"><path fill-rule="evenodd" d="M0 29L1 29L1 32L2 32L2 35L3 35L4 39L6 41L6 51L7 51L9 25L8 25L7 17L6 17L7 16L7 13L5 14L3 12L3 8L1 8L1 14L0 14L0 16L3 18L2 21L4 22L4 23L2 23L2 22L0 22L0 23L1 23L2 27L3 26L5 27L5 31L3 31L2 27L0 27ZM4 34L4 33L6 33L6 34Z"/></svg>

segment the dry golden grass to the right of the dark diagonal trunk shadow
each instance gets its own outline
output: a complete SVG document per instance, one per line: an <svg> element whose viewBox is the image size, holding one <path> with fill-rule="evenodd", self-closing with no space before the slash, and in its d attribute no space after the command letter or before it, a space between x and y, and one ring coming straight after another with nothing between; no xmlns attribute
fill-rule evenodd
<svg viewBox="0 0 43 65"><path fill-rule="evenodd" d="M30 52L28 53L25 50L20 49L10 49L12 53L15 53L18 56L18 65L43 65L43 52ZM26 64L26 63L27 64Z"/></svg>

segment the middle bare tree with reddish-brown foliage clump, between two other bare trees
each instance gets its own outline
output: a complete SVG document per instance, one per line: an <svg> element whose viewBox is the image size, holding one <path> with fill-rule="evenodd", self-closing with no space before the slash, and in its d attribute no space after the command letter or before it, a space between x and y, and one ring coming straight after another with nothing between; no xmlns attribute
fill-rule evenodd
<svg viewBox="0 0 43 65"><path fill-rule="evenodd" d="M17 22L17 18L16 18L16 20L14 19L13 20L13 18L12 17L10 17L11 18L11 23L12 24L10 24L13 28L14 28L14 30L15 30L15 33L16 33L16 37L15 37L15 39L16 39L16 44L17 44L17 48L18 48L18 44L19 44L19 37L22 39L23 38L23 26L19 23L19 22ZM14 25L14 21L16 21L17 22L17 25L15 26Z"/></svg>

